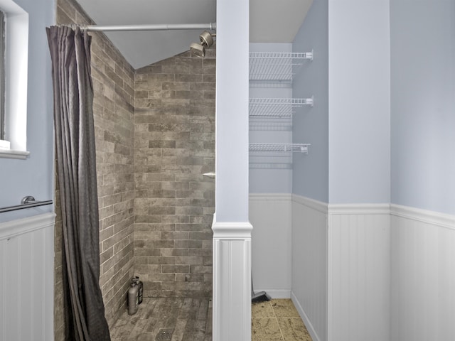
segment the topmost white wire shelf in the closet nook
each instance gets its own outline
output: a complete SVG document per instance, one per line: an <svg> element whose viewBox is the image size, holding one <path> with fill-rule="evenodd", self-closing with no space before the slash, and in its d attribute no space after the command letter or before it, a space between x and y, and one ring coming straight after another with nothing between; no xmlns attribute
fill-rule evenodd
<svg viewBox="0 0 455 341"><path fill-rule="evenodd" d="M296 68L304 60L313 60L313 51L306 53L250 53L250 80L292 81Z"/></svg>

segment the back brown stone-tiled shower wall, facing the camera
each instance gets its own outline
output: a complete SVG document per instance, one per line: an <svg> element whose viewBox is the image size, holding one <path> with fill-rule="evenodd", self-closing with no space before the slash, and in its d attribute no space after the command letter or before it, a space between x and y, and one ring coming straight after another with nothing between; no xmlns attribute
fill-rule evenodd
<svg viewBox="0 0 455 341"><path fill-rule="evenodd" d="M215 49L136 71L134 269L146 296L211 296Z"/></svg>

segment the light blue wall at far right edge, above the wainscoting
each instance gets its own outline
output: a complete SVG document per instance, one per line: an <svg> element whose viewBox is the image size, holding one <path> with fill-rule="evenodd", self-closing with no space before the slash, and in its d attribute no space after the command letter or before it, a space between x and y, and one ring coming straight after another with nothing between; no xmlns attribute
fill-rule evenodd
<svg viewBox="0 0 455 341"><path fill-rule="evenodd" d="M455 1L390 4L392 203L455 214Z"/></svg>

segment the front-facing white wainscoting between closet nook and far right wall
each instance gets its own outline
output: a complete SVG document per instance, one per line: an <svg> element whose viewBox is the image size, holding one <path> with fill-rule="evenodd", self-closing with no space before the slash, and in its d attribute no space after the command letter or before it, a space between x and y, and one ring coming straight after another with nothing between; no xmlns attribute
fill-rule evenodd
<svg viewBox="0 0 455 341"><path fill-rule="evenodd" d="M390 205L328 205L328 250L328 340L390 340Z"/></svg>

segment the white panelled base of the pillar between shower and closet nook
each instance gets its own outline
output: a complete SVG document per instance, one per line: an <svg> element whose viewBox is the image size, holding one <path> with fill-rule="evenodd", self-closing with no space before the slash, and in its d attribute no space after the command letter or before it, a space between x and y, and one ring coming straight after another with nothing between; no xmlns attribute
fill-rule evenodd
<svg viewBox="0 0 455 341"><path fill-rule="evenodd" d="M249 222L213 225L213 341L251 340Z"/></svg>

